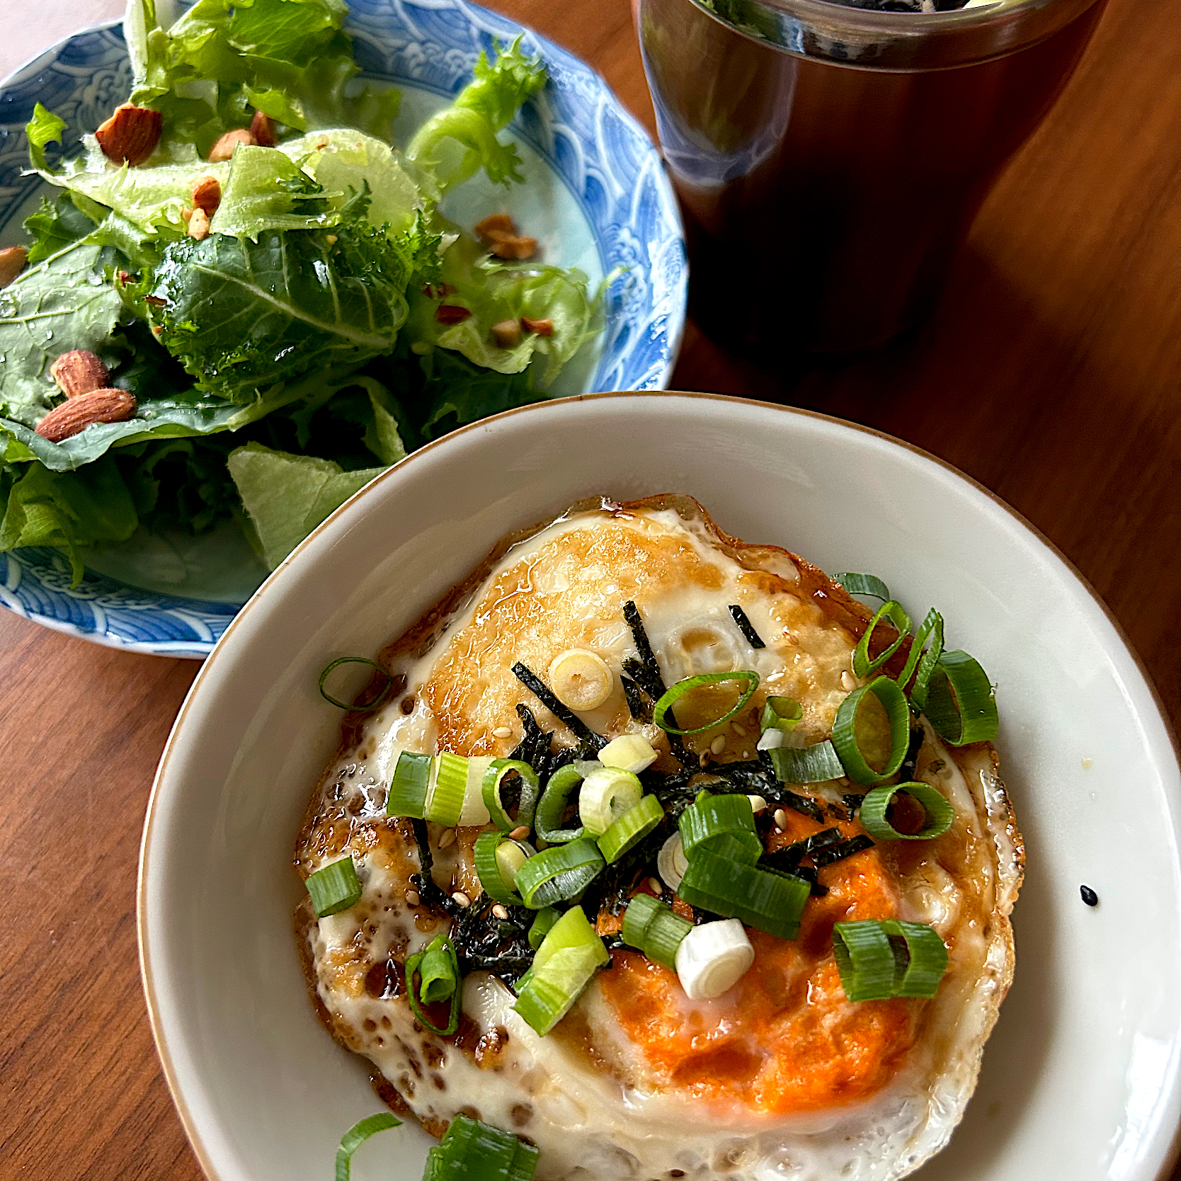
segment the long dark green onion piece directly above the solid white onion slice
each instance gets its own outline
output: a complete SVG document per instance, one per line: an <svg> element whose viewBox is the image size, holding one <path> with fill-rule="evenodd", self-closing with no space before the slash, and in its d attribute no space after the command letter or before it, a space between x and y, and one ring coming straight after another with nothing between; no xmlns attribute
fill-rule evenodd
<svg viewBox="0 0 1181 1181"><path fill-rule="evenodd" d="M698 850L689 859L677 893L691 906L742 919L779 939L795 939L811 886L791 874Z"/></svg>

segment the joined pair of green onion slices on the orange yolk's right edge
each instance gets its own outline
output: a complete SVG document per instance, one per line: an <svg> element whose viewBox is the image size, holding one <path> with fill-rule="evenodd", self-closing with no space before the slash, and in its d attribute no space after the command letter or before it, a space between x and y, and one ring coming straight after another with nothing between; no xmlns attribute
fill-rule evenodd
<svg viewBox="0 0 1181 1181"><path fill-rule="evenodd" d="M833 953L849 1000L929 998L947 971L946 945L938 931L922 922L837 922Z"/></svg>

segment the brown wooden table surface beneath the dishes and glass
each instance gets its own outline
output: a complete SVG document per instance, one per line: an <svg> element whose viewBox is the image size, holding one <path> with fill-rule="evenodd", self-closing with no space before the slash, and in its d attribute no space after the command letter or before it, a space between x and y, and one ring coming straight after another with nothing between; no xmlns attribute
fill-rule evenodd
<svg viewBox="0 0 1181 1181"><path fill-rule="evenodd" d="M495 0L651 130L627 0ZM0 74L122 0L0 6ZM692 327L674 387L789 402L955 464L1042 529L1181 723L1181 0L1111 0L915 337L775 372ZM196 664L0 612L0 1177L197 1181L139 987L135 881ZM1174 1174L1181 1181L1181 1169Z"/></svg>

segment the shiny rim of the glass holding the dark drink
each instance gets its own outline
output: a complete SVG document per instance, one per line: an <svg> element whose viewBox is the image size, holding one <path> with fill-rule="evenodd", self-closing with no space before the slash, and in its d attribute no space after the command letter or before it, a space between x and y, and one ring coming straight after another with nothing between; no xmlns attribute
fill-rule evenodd
<svg viewBox="0 0 1181 1181"><path fill-rule="evenodd" d="M687 0L731 32L850 70L950 70L1009 57L1107 0L996 0L950 12L880 12L839 0Z"/></svg>

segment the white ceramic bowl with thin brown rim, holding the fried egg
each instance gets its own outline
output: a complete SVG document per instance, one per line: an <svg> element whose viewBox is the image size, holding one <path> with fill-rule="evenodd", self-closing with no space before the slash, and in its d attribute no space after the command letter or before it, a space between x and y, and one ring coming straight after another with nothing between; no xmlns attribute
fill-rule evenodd
<svg viewBox="0 0 1181 1181"><path fill-rule="evenodd" d="M340 722L320 668L374 653L509 530L590 494L661 491L746 541L873 570L919 618L938 605L950 646L998 684L1029 854L1017 978L922 1181L1159 1177L1181 1115L1181 776L1102 603L1004 504L883 436L737 399L613 394L502 415L398 464L272 575L197 676L148 811L139 937L210 1179L324 1181L341 1133L380 1110L363 1062L319 1025L292 933L295 833ZM425 1134L383 1140L355 1175L418 1181Z"/></svg>

